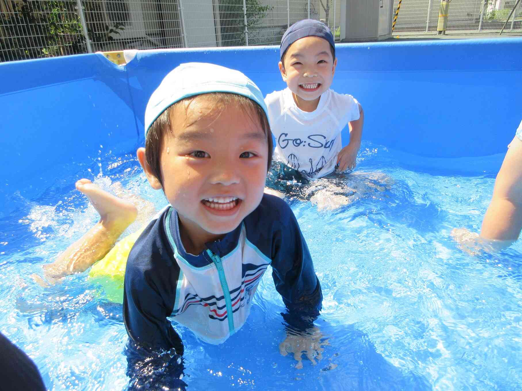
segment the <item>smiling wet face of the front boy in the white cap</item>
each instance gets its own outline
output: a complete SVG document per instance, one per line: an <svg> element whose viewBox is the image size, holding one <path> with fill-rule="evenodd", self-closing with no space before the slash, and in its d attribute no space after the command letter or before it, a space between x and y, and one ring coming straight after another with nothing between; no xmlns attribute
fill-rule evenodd
<svg viewBox="0 0 522 391"><path fill-rule="evenodd" d="M224 107L208 94L176 104L160 151L163 185L138 150L151 186L163 188L179 214L187 251L198 253L205 242L238 227L263 197L267 137L256 113L248 111Z"/></svg>

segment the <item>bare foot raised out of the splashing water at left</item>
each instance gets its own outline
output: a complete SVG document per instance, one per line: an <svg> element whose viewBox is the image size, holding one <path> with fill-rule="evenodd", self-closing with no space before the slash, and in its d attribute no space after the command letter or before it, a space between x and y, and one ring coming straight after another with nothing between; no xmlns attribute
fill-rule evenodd
<svg viewBox="0 0 522 391"><path fill-rule="evenodd" d="M89 179L77 181L76 188L89 199L94 209L100 214L100 223L107 228L111 228L108 225L114 224L128 226L138 215L138 210L132 202L113 196Z"/></svg>

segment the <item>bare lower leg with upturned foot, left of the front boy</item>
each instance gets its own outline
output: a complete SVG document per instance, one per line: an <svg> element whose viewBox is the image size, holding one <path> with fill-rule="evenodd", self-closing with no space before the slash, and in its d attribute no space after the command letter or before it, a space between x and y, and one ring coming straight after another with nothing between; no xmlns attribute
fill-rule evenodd
<svg viewBox="0 0 522 391"><path fill-rule="evenodd" d="M102 259L138 213L133 203L100 189L89 179L77 181L76 188L98 211L100 221L60 254L56 261L43 266L44 275L51 282L65 275L84 272Z"/></svg>

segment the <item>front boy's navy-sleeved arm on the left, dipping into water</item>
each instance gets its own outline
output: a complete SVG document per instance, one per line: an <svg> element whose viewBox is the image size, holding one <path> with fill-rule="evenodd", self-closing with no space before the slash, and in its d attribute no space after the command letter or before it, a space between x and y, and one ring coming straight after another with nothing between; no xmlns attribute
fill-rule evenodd
<svg viewBox="0 0 522 391"><path fill-rule="evenodd" d="M184 390L186 386L180 380L183 343L167 319L174 306L179 268L158 234L162 227L147 226L127 260L123 320L129 336L125 351L129 390L146 385Z"/></svg>

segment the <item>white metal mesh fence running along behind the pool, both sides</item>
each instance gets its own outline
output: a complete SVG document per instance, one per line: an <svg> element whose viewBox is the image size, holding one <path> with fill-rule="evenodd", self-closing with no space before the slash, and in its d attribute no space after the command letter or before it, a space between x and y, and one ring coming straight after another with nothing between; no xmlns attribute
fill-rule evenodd
<svg viewBox="0 0 522 391"><path fill-rule="evenodd" d="M515 4L451 0L447 31L499 30ZM394 33L435 32L439 7L440 0L402 0ZM304 18L324 21L339 38L340 11L341 0L0 0L0 62L133 48L277 45ZM522 2L506 30L522 30Z"/></svg>

